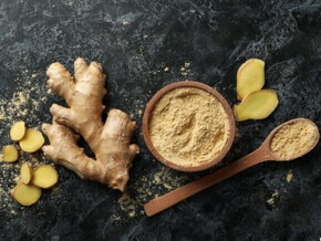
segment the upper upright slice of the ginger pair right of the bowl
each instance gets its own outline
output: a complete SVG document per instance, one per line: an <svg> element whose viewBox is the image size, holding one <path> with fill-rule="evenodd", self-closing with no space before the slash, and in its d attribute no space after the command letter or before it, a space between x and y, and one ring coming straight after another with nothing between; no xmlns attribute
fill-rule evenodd
<svg viewBox="0 0 321 241"><path fill-rule="evenodd" d="M259 59L246 61L237 72L237 98L242 101L265 85L265 62Z"/></svg>

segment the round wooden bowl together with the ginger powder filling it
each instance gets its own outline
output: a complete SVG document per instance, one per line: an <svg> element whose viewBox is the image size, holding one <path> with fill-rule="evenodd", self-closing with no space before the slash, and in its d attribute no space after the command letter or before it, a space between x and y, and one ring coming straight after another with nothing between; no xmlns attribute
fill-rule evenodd
<svg viewBox="0 0 321 241"><path fill-rule="evenodd" d="M178 170L196 171L214 166L227 154L235 120L218 92L188 81L157 92L146 107L143 130L158 160Z"/></svg>

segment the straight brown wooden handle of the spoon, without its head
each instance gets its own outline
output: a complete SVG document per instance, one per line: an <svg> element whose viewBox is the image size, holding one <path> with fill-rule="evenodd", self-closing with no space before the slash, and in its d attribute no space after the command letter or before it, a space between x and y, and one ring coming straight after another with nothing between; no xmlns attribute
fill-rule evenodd
<svg viewBox="0 0 321 241"><path fill-rule="evenodd" d="M251 166L255 166L256 164L267 160L268 157L267 155L262 155L265 153L262 150L262 148L259 148L225 168L221 168L208 176L200 178L199 180L193 181L147 202L146 205L144 205L146 214L151 217L161 211L164 211L165 209L183 201L188 197L191 197L193 195L219 181L222 181Z"/></svg>

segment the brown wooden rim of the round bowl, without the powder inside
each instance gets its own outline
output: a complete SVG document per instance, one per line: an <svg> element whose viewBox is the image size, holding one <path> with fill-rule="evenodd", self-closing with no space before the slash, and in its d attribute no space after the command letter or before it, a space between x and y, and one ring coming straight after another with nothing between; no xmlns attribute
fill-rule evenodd
<svg viewBox="0 0 321 241"><path fill-rule="evenodd" d="M172 163L168 159L165 159L158 151L157 149L154 147L152 140L151 140L151 135L149 135L149 118L151 118L151 114L152 111L155 106L155 104L161 99L161 97L163 97L164 94L166 94L167 92L170 92L174 88L177 87L197 87L200 88L203 91L206 91L210 94L213 94L221 104L222 107L228 116L229 119L229 136L228 139L226 142L225 147L221 149L220 154L215 157L211 160L208 160L204 164L200 164L198 166L178 166L174 163ZM151 150L151 153L154 155L154 157L156 157L156 159L158 159L161 163L163 163L164 165L166 165L167 167L174 168L176 170L183 170L183 171L199 171L199 170L205 170L209 167L213 167L214 165L218 164L228 153L228 150L230 149L234 138L235 138L235 118L234 118L234 114L232 111L229 106L229 104L227 103L227 101L217 92L215 91L213 87L199 83L199 82L193 82L193 81L183 81L183 82L176 82L173 84L169 84L165 87L163 87L162 90L159 90L149 101L149 103L147 104L145 112L144 112L144 117L143 117L143 135L144 135L144 140L148 147L148 149Z"/></svg>

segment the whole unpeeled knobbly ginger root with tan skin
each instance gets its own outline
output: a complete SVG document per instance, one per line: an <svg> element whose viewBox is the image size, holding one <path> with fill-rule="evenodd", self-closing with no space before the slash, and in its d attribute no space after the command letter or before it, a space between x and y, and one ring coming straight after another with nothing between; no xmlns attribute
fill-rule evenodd
<svg viewBox="0 0 321 241"><path fill-rule="evenodd" d="M53 63L46 75L49 87L65 99L69 108L56 104L50 108L53 122L42 125L50 140L50 145L42 147L45 156L83 179L124 191L132 160L139 151L137 145L131 144L136 123L118 109L111 109L105 124L102 122L106 90L101 64L87 65L83 59L77 59L74 76L71 76L61 63ZM77 135L73 130L84 137L95 160L76 145Z"/></svg>

